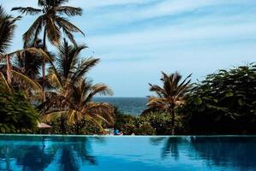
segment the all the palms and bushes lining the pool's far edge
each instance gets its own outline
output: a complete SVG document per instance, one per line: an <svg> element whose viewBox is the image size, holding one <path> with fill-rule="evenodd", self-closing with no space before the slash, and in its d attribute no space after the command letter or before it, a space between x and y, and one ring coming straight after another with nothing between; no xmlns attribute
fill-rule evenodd
<svg viewBox="0 0 256 171"><path fill-rule="evenodd" d="M74 33L84 33L68 21L82 9L65 3L38 0L39 9L13 8L38 15L23 34L23 49L15 51L9 47L21 16L0 6L0 133L103 134L113 127L136 135L256 133L255 63L219 70L196 83L191 74L182 79L177 72L162 72L162 85L149 84L154 94L139 116L95 102L113 91L89 79L100 59L82 56L87 47L76 43ZM52 128L39 130L41 122Z"/></svg>

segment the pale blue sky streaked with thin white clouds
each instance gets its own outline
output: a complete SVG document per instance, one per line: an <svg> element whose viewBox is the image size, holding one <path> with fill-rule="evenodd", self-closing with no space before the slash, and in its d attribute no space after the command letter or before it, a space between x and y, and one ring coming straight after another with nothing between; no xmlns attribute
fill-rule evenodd
<svg viewBox="0 0 256 171"><path fill-rule="evenodd" d="M37 0L0 0L14 6L37 6ZM101 62L88 74L110 85L115 97L151 95L148 83L160 84L161 71L193 74L193 81L221 68L256 62L255 0L69 0L83 9L69 18L86 33L75 34L89 49L82 57ZM18 15L9 12L11 15ZM22 34L36 19L17 23L10 50L22 47Z"/></svg>

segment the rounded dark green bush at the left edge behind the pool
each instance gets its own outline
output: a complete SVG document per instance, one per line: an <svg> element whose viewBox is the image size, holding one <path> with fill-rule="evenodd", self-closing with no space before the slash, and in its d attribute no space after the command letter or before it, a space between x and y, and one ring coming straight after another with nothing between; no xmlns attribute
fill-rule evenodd
<svg viewBox="0 0 256 171"><path fill-rule="evenodd" d="M3 90L0 85L0 133L34 133L39 113L24 93Z"/></svg>

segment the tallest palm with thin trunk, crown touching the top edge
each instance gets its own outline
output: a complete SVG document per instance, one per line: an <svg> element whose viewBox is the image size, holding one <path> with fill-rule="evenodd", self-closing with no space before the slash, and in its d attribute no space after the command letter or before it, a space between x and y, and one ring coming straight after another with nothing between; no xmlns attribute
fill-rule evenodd
<svg viewBox="0 0 256 171"><path fill-rule="evenodd" d="M25 15L39 15L37 20L33 22L33 25L23 34L25 46L30 42L35 42L42 29L44 29L43 50L46 50L46 37L51 44L59 45L62 34L61 30L75 44L72 32L84 33L62 15L82 15L82 9L63 6L64 3L68 3L68 0L39 0L38 5L41 9L34 9L32 7L15 7L12 9ZM42 73L43 91L45 91L45 58L43 59Z"/></svg>

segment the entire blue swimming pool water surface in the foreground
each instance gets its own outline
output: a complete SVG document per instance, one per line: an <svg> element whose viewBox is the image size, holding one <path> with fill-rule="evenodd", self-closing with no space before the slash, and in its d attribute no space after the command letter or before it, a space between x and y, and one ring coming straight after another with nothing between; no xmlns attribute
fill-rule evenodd
<svg viewBox="0 0 256 171"><path fill-rule="evenodd" d="M256 170L256 137L0 136L0 170Z"/></svg>

